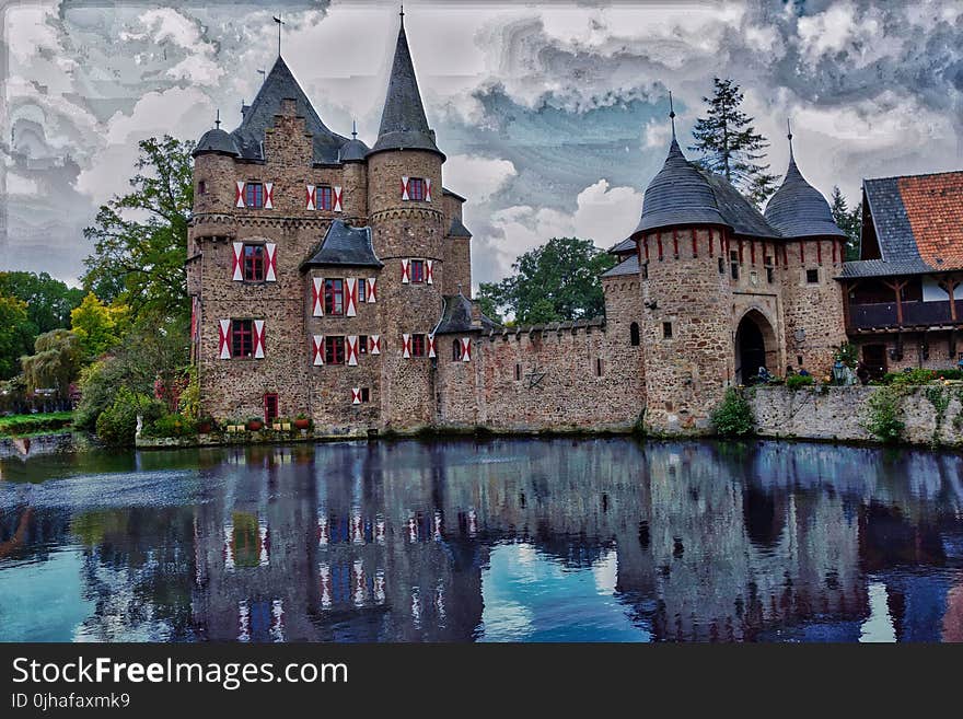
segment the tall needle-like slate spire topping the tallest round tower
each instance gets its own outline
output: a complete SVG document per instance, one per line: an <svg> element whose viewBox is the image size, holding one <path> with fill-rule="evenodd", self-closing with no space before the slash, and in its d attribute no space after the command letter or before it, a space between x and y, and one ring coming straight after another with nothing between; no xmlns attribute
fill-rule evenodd
<svg viewBox="0 0 963 719"><path fill-rule="evenodd" d="M382 150L428 150L444 156L434 143L434 134L428 127L428 118L425 116L418 80L415 78L415 66L411 62L411 51L408 49L408 38L405 36L404 19L395 46L395 58L387 83L378 142L374 143L371 152Z"/></svg>

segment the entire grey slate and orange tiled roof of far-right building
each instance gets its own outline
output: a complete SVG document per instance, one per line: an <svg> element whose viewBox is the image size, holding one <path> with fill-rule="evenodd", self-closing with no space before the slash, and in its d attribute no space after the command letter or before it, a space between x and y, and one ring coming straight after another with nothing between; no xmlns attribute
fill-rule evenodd
<svg viewBox="0 0 963 719"><path fill-rule="evenodd" d="M963 269L963 171L881 177L862 184L882 259Z"/></svg>

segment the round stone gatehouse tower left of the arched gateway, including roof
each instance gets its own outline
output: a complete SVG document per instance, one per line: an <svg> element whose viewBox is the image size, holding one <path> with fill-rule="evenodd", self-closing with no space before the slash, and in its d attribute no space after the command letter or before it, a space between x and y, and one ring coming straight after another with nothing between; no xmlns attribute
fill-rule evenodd
<svg viewBox="0 0 963 719"><path fill-rule="evenodd" d="M700 431L731 382L729 229L675 139L642 200L639 247L646 426ZM721 268L721 271L720 271Z"/></svg>

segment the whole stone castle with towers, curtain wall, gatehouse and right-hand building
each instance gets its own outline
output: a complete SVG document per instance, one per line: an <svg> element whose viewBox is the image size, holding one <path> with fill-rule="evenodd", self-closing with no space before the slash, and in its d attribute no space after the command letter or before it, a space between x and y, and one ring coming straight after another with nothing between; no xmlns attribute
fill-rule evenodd
<svg viewBox="0 0 963 719"><path fill-rule="evenodd" d="M279 56L240 127L194 155L192 357L219 420L700 432L726 387L759 367L826 374L847 338L875 373L955 364L963 173L867 181L847 263L793 158L762 213L674 132L612 248L604 318L499 326L469 297L466 200L443 185L404 18L371 148L328 129Z"/></svg>

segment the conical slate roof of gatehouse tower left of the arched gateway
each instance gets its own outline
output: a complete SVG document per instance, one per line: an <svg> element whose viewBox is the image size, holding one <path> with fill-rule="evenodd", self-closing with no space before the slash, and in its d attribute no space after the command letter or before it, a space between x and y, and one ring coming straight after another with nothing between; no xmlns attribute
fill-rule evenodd
<svg viewBox="0 0 963 719"><path fill-rule="evenodd" d="M694 223L726 224L726 221L716 206L709 182L685 159L673 136L665 164L646 188L642 218L636 232Z"/></svg>

